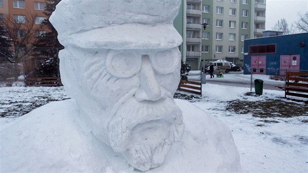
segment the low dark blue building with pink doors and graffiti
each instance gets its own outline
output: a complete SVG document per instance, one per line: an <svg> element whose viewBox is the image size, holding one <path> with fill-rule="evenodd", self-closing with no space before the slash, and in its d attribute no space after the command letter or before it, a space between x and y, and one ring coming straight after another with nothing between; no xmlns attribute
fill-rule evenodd
<svg viewBox="0 0 308 173"><path fill-rule="evenodd" d="M308 70L308 33L248 39L244 51L244 74Z"/></svg>

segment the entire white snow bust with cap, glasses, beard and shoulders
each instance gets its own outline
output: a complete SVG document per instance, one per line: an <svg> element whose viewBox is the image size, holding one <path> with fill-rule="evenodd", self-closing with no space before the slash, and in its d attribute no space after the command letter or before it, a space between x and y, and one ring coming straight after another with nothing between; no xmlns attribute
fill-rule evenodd
<svg viewBox="0 0 308 173"><path fill-rule="evenodd" d="M231 131L173 99L180 1L61 0L50 20L73 99L0 126L0 172L241 172Z"/></svg>

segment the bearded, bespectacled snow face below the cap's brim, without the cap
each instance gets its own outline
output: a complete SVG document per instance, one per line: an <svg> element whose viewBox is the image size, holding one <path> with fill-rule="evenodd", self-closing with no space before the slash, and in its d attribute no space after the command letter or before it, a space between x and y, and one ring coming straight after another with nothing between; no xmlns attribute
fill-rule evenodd
<svg viewBox="0 0 308 173"><path fill-rule="evenodd" d="M66 56L80 60L80 71L75 69L75 75L79 78L76 86L83 94L71 94L81 106L82 116L90 119L87 124L94 135L121 152L138 170L162 164L184 130L181 110L173 100L180 70L177 47L145 50L72 47L64 51ZM72 60L63 61L67 66Z"/></svg>

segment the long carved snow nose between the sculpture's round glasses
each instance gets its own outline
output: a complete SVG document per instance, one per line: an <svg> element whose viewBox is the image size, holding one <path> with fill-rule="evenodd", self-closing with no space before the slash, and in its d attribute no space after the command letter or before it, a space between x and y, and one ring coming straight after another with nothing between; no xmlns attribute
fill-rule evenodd
<svg viewBox="0 0 308 173"><path fill-rule="evenodd" d="M149 55L142 55L140 86L136 90L135 98L140 102L143 100L156 101L161 97L160 85L156 80L155 72L151 65Z"/></svg>

